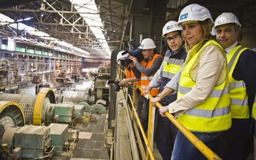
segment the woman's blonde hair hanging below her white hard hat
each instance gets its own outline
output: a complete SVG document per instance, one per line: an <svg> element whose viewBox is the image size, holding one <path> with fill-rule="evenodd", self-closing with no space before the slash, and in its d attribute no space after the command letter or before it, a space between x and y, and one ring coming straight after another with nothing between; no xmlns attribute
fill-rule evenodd
<svg viewBox="0 0 256 160"><path fill-rule="evenodd" d="M210 39L214 39L213 36L211 36L211 24L209 23L209 20L204 20L204 21L198 21L199 25L201 26L202 30L203 30L203 40L205 40L205 42L207 42ZM186 41L186 39L184 38L184 34L182 32L182 38L185 40L185 44L184 47L186 49L186 51L189 51L189 42Z"/></svg>

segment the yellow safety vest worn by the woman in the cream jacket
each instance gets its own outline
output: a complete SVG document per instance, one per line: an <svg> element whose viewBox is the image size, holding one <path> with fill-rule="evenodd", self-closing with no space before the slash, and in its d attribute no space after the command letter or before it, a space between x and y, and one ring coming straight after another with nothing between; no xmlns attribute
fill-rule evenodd
<svg viewBox="0 0 256 160"><path fill-rule="evenodd" d="M187 55L179 81L177 98L182 97L195 86L196 82L190 78L190 69L197 63L205 47L209 45L218 47L223 56L226 57L223 48L216 41L201 41L196 44ZM228 71L228 68L226 70ZM177 119L187 129L195 132L218 132L229 129L231 127L231 113L228 79L226 78L219 86L213 87L210 96L205 102L185 111Z"/></svg>

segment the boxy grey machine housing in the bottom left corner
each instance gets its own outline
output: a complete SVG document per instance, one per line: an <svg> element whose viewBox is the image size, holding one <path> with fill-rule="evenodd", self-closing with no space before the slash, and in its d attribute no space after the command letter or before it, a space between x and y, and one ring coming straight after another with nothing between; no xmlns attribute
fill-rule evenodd
<svg viewBox="0 0 256 160"><path fill-rule="evenodd" d="M14 153L20 158L51 158L54 148L50 146L50 127L25 125L23 127L9 127L2 137L1 148L6 159L11 159ZM17 158L17 154L16 158Z"/></svg>

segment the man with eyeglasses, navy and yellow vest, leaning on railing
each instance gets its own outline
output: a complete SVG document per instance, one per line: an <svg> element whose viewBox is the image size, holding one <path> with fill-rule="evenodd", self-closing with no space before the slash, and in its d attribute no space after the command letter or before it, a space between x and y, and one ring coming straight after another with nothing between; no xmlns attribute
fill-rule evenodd
<svg viewBox="0 0 256 160"><path fill-rule="evenodd" d="M182 47L184 44L181 36L182 28L176 24L176 21L169 21L163 27L163 36L168 43L168 50L166 50L160 69L154 75L149 88L143 92L143 94L147 94L152 88L160 86L160 94L151 100L153 105L160 102L161 105L166 106L177 98L177 93L171 94L173 89L166 86L181 69L181 65L187 57L187 52ZM168 92L163 92L163 90L168 90ZM171 150L173 150L176 133L177 128L168 118L160 116L158 111L156 114L155 142L163 159L171 159Z"/></svg>

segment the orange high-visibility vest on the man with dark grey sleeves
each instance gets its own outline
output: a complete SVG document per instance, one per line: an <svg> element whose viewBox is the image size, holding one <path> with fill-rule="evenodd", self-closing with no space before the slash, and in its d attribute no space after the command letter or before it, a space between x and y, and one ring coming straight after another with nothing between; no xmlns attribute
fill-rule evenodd
<svg viewBox="0 0 256 160"><path fill-rule="evenodd" d="M145 62L145 60L143 60L142 66L146 67L147 69L150 68L150 66L152 65L152 63L155 61L155 59L157 57L162 57L162 56L160 54L155 54L151 60L148 60L147 62ZM142 89L148 89L148 87L149 87L148 84L153 79L154 74L155 73L151 74L150 76L146 76L146 74L141 73L142 76L141 76L141 80L140 80L140 86L142 87ZM150 90L150 94L152 96L158 95L158 92L159 92L159 87L153 88ZM143 95L142 92L140 92L140 94Z"/></svg>

